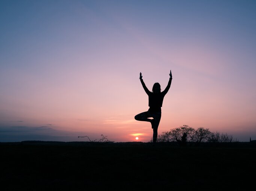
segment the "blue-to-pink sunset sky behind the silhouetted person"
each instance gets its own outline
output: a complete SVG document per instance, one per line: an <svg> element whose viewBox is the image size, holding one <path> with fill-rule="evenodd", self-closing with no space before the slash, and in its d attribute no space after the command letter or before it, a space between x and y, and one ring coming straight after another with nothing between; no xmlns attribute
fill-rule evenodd
<svg viewBox="0 0 256 191"><path fill-rule="evenodd" d="M0 142L148 142L139 72L170 70L158 134L256 140L254 0L1 0L0 26Z"/></svg>

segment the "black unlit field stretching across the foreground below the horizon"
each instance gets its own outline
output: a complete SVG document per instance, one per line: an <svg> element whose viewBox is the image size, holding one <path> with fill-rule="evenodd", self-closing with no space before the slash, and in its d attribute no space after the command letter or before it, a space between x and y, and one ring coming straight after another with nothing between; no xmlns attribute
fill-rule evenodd
<svg viewBox="0 0 256 191"><path fill-rule="evenodd" d="M256 146L0 143L4 190L255 189Z"/></svg>

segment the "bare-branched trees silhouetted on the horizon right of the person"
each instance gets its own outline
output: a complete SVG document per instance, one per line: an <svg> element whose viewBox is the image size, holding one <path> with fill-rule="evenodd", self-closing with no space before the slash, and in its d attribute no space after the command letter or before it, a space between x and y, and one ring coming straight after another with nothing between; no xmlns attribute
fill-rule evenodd
<svg viewBox="0 0 256 191"><path fill-rule="evenodd" d="M237 139L233 139L232 135L220 133L218 131L211 132L209 129L199 127L194 129L189 125L183 125L170 131L163 131L157 137L157 142L177 142L181 145L189 143L231 143L237 142ZM151 139L150 142L153 142Z"/></svg>

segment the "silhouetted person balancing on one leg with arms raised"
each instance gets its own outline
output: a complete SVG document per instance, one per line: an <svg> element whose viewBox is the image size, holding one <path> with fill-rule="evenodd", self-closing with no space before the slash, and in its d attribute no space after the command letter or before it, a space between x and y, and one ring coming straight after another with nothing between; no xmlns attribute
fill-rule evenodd
<svg viewBox="0 0 256 191"><path fill-rule="evenodd" d="M161 107L163 104L163 98L165 94L171 87L172 83L172 72L170 71L170 78L167 87L164 91L161 92L161 86L159 83L155 83L152 88L152 92L148 90L146 87L141 72L139 73L139 79L141 80L142 87L144 88L145 92L148 94L148 106L149 109L147 112L139 113L135 116L135 119L138 121L148 121L151 123L151 127L153 129L153 143L156 143L157 139L157 129L161 119ZM153 118L153 119L148 119Z"/></svg>

